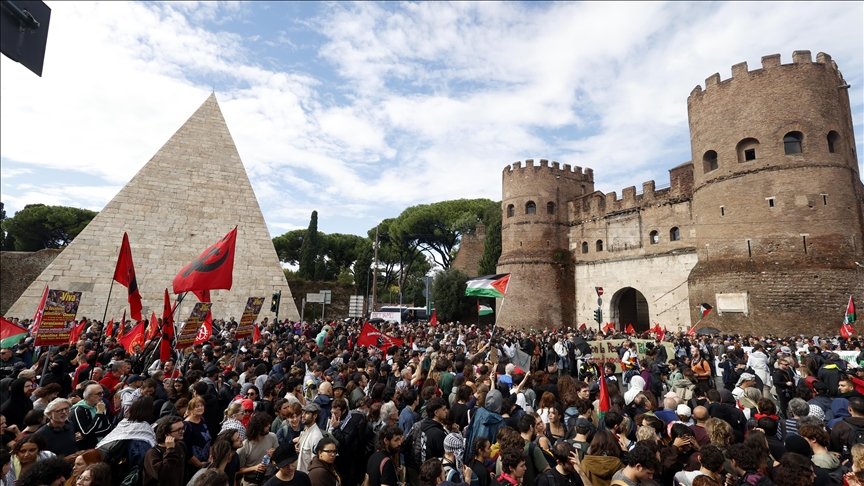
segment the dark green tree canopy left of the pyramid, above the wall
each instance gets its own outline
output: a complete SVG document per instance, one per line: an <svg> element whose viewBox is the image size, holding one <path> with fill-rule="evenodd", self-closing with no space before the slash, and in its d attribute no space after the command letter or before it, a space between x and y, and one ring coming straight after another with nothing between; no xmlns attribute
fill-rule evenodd
<svg viewBox="0 0 864 486"><path fill-rule="evenodd" d="M28 204L3 221L3 230L15 239L15 250L62 248L72 242L96 217L89 209Z"/></svg>

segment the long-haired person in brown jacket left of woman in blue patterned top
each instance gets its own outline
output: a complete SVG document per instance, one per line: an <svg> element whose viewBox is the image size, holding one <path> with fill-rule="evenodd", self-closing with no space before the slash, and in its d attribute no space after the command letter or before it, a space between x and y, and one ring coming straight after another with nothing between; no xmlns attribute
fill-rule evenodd
<svg viewBox="0 0 864 486"><path fill-rule="evenodd" d="M144 455L144 483L156 480L165 486L186 484L186 426L177 416L166 418L156 428L156 447Z"/></svg>

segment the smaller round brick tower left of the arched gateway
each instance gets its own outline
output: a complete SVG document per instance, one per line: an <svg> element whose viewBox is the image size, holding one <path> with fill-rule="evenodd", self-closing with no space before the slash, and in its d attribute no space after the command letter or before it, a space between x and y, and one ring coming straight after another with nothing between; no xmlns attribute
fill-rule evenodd
<svg viewBox="0 0 864 486"><path fill-rule="evenodd" d="M594 174L541 159L515 162L502 175L499 273L512 273L504 327L561 327L575 322L567 203L594 192ZM502 307L503 305L503 307Z"/></svg>

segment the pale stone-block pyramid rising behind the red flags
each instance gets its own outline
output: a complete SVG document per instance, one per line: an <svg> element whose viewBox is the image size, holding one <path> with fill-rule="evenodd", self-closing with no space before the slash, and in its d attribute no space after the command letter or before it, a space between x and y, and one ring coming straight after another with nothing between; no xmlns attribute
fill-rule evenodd
<svg viewBox="0 0 864 486"><path fill-rule="evenodd" d="M129 234L145 317L161 317L165 288L184 265L237 226L234 283L211 293L215 318L240 321L246 299L263 296L259 320L273 319L270 296L282 291L279 317L298 320L297 307L240 154L215 94L198 108L6 313L32 317L42 290L81 291L78 317L102 319L123 232ZM128 309L115 284L108 319ZM197 302L187 296L178 321Z"/></svg>

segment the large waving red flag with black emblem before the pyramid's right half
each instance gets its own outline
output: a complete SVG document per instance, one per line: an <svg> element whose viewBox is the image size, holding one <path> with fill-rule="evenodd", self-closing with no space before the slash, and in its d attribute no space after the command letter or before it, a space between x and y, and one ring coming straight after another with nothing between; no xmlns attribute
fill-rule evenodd
<svg viewBox="0 0 864 486"><path fill-rule="evenodd" d="M174 277L174 293L195 290L231 290L234 274L237 227L204 250Z"/></svg>

